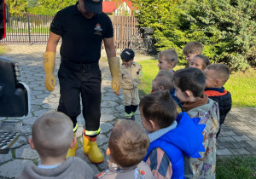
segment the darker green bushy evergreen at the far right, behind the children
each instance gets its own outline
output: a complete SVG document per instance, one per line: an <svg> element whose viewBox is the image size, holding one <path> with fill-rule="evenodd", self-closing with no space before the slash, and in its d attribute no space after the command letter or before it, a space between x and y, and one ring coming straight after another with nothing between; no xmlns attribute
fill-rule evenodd
<svg viewBox="0 0 256 179"><path fill-rule="evenodd" d="M186 1L186 26L202 32L204 53L214 62L224 62L233 70L255 66L256 1ZM189 34L188 34L189 35Z"/></svg>

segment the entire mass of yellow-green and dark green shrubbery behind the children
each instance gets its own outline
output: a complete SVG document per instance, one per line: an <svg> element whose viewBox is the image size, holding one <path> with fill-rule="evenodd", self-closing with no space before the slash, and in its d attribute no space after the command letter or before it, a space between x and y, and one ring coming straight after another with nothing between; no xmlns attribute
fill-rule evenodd
<svg viewBox="0 0 256 179"><path fill-rule="evenodd" d="M159 50L174 48L183 59L183 46L199 41L212 62L224 62L233 70L256 65L256 0L132 2L140 26L154 28Z"/></svg>

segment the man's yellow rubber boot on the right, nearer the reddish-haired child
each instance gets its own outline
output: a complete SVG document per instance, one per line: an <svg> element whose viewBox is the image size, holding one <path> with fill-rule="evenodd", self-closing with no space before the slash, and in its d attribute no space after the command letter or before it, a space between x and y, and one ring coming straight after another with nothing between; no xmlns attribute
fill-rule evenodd
<svg viewBox="0 0 256 179"><path fill-rule="evenodd" d="M102 163L104 158L99 147L97 146L96 137L91 138L89 136L85 136L84 132L85 130L83 131L84 154L88 156L92 163Z"/></svg>

